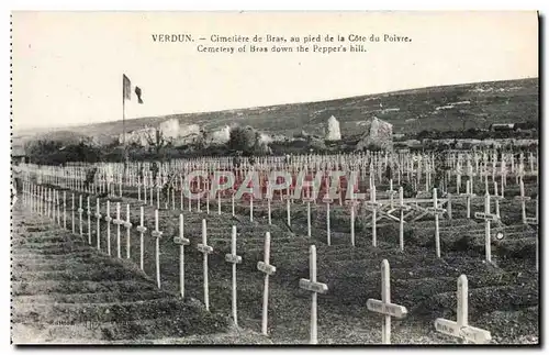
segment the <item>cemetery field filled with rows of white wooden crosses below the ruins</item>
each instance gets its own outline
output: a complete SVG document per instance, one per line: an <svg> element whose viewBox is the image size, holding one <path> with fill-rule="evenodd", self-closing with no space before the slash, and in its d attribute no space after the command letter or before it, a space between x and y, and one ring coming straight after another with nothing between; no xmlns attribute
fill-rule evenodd
<svg viewBox="0 0 549 355"><path fill-rule="evenodd" d="M161 317L186 324L169 336L231 328L254 344L537 343L538 157L444 154L442 173L427 152L267 156L238 167L229 157L200 157L157 173L148 163L99 163L88 185L91 164L24 164L22 203L56 231L44 236L52 244L34 236L25 246L59 265L65 254L97 259L68 274L48 264L32 280L66 295L59 312L105 292L94 280L123 284L125 292L104 293L104 302L120 302L114 312L131 324L104 325L112 328L98 335L105 341L130 330L146 340L148 320ZM290 174L285 189L273 189L281 182L269 180L273 170ZM206 176L189 178L193 171ZM225 182L214 181L215 171L231 171L235 182L211 193ZM236 198L249 171L260 199ZM60 231L72 235L69 248L55 244ZM115 271L105 276L107 265ZM18 287L32 288L21 275ZM75 275L90 288L64 284ZM142 288L135 275L156 287ZM210 315L186 319L158 292ZM38 308L29 312L55 321Z"/></svg>

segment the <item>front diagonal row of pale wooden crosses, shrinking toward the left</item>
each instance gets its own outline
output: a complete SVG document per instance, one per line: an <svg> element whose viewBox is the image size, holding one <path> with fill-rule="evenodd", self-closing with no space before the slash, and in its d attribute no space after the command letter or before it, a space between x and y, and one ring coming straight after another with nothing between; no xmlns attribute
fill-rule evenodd
<svg viewBox="0 0 549 355"><path fill-rule="evenodd" d="M436 203L436 190L434 191L435 204L432 209L433 213L437 215L438 208ZM66 191L63 191L63 200L66 201ZM24 193L23 193L23 203L25 203L31 211L36 212L41 215L47 217L57 223L59 226L67 229L67 213L66 213L66 203L59 203L59 193L56 190L45 189L40 186L34 186L30 182L25 182ZM91 237L91 209L89 204L89 199L87 200L87 217L88 217L88 244L92 245ZM63 206L63 212L60 211L60 207ZM75 231L75 210L79 214L79 233ZM97 248L101 249L100 245L100 222L103 219L107 222L107 233L108 233L108 254L111 254L111 245L110 245L110 233L111 233L111 222L116 225L116 257L121 258L121 226L124 226L127 231L126 237L126 258L131 257L131 245L130 245L130 231L133 228L130 222L130 206L126 206L126 220L122 220L120 217L121 206L120 202L116 203L116 218L112 219L110 217L110 201L107 201L107 215L102 217L100 214L99 209L99 199L97 200L97 210L94 217L97 218ZM75 198L72 195L72 209L71 209L71 232L74 234L79 234L83 236L82 231L82 213L85 210L82 209L82 197L79 196L79 207L75 209ZM63 215L63 224L61 224L61 215ZM494 218L490 212L485 212L483 215L479 215L480 218L484 218L486 221ZM143 253L144 253L144 234L147 232L147 229L144 225L144 211L143 207L141 207L141 224L136 228L136 231L139 232L141 243L139 243L139 260L141 268L143 270ZM159 251L159 240L164 237L164 233L159 229L159 220L158 220L158 210L155 210L155 230L150 232L150 236L153 236L156 241L156 281L157 287L161 288L161 278L160 278L160 251ZM184 293L184 246L190 245L189 238L184 237L184 220L183 214L179 215L179 235L173 236L173 243L180 246L180 273L179 273L179 284L180 284L180 295L182 298L186 297ZM205 309L210 310L210 301L209 301L209 279L208 279L208 268L209 268L209 254L213 253L213 247L208 244L208 229L206 229L206 220L202 220L202 240L201 243L197 246L198 252L203 255L203 301ZM438 255L439 256L439 255ZM225 255L225 260L232 264L232 314L235 324L237 324L237 308L236 308L236 298L237 298L237 285L236 285L236 266L242 263L242 256L237 254L236 251L236 226L232 228L232 236L231 236L231 253ZM266 232L265 235L265 247L264 247L264 259L257 263L257 269L265 274L265 284L264 284L264 300L262 300L262 317L261 317L261 332L265 335L268 335L268 302L269 302L269 277L273 276L277 271L276 266L270 264L270 232ZM391 302L391 288L390 288L390 268L388 260L383 260L381 265L381 300L378 299L368 299L367 308L368 310L380 313L383 315L382 322L382 343L390 344L391 343L391 318L404 318L407 314L407 310L405 307L394 304ZM317 343L317 295L326 293L328 291L327 285L317 281L317 270L316 270L316 247L315 245L310 245L310 277L309 279L302 278L298 285L300 288L307 290L311 292L311 322L310 322L310 343ZM460 276L458 279L458 319L457 321L450 321L446 319L437 319L435 321L436 331L458 337L462 340L463 343L488 343L491 340L491 335L489 331L481 330L474 326L469 325L468 323L468 286L467 286L467 277L464 275Z"/></svg>

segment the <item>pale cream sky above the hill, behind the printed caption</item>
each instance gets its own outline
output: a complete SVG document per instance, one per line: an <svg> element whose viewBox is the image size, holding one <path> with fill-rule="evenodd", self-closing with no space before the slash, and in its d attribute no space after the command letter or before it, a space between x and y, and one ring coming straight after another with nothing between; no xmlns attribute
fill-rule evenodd
<svg viewBox="0 0 549 355"><path fill-rule="evenodd" d="M531 11L15 12L13 129L121 120L122 74L144 100L126 101L126 119L537 77L537 21ZM158 43L154 34L197 41ZM214 34L396 34L412 42L329 55L199 53L198 38Z"/></svg>

